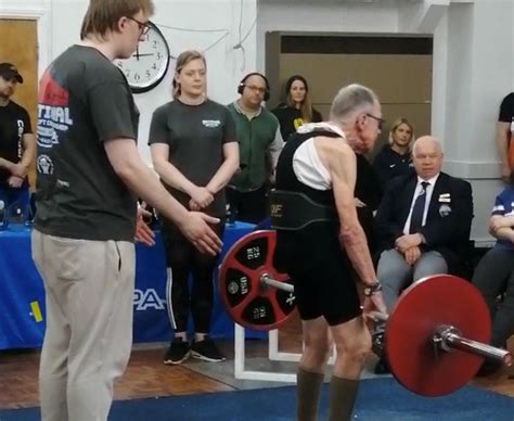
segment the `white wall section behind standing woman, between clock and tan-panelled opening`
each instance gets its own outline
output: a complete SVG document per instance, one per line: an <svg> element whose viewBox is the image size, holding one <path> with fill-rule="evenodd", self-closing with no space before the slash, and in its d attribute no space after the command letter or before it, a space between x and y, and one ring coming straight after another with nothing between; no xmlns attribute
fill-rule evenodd
<svg viewBox="0 0 514 421"><path fill-rule="evenodd" d="M236 97L236 86L246 73L254 72L255 64L255 1L244 0L243 16L241 2L235 0L168 0L155 1L156 23L167 38L171 55L177 56L187 49L197 49L205 53L207 60L207 86L209 97L220 103L232 102ZM248 37L243 42L244 50L235 49L241 36ZM213 30L198 33L174 28ZM154 90L136 95L141 111L140 151L150 163L146 146L150 119L153 110L170 100L170 87L175 61L163 82Z"/></svg>

